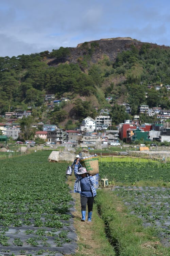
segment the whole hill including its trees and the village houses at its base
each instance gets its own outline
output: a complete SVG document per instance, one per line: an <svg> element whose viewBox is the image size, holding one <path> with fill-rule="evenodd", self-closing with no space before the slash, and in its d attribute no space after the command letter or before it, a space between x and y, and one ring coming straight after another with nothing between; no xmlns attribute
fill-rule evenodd
<svg viewBox="0 0 170 256"><path fill-rule="evenodd" d="M1 140L169 143L169 56L164 45L110 38L1 58Z"/></svg>

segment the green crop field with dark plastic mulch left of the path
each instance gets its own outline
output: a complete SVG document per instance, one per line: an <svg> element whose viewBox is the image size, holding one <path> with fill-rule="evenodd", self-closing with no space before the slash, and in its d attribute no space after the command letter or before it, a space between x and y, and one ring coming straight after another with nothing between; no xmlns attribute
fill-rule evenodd
<svg viewBox="0 0 170 256"><path fill-rule="evenodd" d="M50 153L0 160L0 255L75 251L67 163L48 162Z"/></svg>

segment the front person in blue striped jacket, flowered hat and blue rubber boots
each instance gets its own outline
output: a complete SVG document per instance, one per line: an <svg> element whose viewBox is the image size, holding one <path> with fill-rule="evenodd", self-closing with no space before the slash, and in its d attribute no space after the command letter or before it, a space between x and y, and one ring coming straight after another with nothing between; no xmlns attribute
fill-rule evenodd
<svg viewBox="0 0 170 256"><path fill-rule="evenodd" d="M74 183L74 193L80 193L80 202L81 202L81 211L82 219L86 219L86 205L88 208L88 217L87 221L91 222L92 209L94 203L94 197L96 196L96 189L94 187L95 179L91 175L88 175L85 167L78 169L79 158L74 165L74 174L76 181Z"/></svg>

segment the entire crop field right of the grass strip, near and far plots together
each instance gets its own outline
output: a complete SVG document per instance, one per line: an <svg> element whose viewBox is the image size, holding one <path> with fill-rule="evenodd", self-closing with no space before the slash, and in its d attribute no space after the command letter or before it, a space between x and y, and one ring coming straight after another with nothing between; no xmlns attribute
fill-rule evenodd
<svg viewBox="0 0 170 256"><path fill-rule="evenodd" d="M130 214L141 218L143 226L154 227L162 244L169 247L170 163L103 162L99 165L101 178L119 184L112 188L113 193L122 198ZM161 182L162 186L134 186L137 182Z"/></svg>

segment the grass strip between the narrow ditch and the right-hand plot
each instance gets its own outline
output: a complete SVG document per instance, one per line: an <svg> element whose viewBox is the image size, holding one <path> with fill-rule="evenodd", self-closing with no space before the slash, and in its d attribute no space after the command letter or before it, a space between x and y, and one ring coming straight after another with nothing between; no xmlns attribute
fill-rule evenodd
<svg viewBox="0 0 170 256"><path fill-rule="evenodd" d="M160 244L156 229L144 228L141 219L129 214L112 191L98 189L96 207L117 256L170 255L169 248Z"/></svg>

